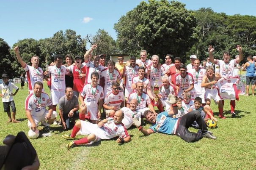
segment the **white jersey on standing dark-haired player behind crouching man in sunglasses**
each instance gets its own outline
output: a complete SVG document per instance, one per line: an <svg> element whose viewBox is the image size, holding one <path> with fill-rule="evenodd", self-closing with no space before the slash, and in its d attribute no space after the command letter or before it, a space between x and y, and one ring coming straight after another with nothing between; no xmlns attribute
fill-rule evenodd
<svg viewBox="0 0 256 170"><path fill-rule="evenodd" d="M101 77L104 77L104 96L107 95L110 91L112 91L112 83L116 82L117 80L121 80L122 77L118 70L114 69L112 73L109 72L108 69L104 69L101 73Z"/></svg>

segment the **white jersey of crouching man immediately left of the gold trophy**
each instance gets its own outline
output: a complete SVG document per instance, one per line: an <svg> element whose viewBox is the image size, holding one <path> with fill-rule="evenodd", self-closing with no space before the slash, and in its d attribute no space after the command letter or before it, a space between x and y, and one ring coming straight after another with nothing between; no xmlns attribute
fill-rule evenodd
<svg viewBox="0 0 256 170"><path fill-rule="evenodd" d="M138 93L136 91L131 93L128 97L127 104L130 104L130 101L132 99L137 99L138 104L139 104L137 109L143 109L146 107L146 104L148 104L148 105L151 104L149 96L144 92L140 96L138 95Z"/></svg>

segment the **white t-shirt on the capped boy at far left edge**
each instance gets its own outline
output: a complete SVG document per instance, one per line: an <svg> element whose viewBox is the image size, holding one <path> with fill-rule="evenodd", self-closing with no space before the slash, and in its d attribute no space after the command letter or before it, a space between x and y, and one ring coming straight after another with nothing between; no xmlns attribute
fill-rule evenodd
<svg viewBox="0 0 256 170"><path fill-rule="evenodd" d="M14 85L14 83L12 82L9 82L8 85L4 83L0 84L0 91L1 91L1 94L3 94L3 97L2 97L3 102L9 102L14 100L13 96L11 96L13 89L17 90L18 87Z"/></svg>

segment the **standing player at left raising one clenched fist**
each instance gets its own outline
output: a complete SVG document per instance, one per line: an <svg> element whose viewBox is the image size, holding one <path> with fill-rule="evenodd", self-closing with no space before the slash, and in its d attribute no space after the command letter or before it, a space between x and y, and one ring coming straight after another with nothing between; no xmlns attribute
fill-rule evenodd
<svg viewBox="0 0 256 170"><path fill-rule="evenodd" d="M27 74L27 79L28 79L28 92L29 94L33 93L33 87L35 82L39 81L39 82L43 82L43 78L44 78L44 71L43 69L41 69L40 67L38 67L39 65L39 56L33 56L31 58L31 63L32 66L28 66L21 58L20 54L19 54L19 47L15 47L14 48L14 52L16 53L17 59L19 61L19 64L21 64L22 68L25 70L26 74ZM44 89L43 89L44 91Z"/></svg>

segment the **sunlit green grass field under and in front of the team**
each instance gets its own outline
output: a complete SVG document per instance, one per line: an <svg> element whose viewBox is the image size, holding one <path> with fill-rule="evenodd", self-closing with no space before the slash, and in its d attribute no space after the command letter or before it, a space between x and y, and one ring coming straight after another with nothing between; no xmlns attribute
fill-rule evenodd
<svg viewBox="0 0 256 170"><path fill-rule="evenodd" d="M19 86L19 84L17 84ZM50 93L45 84L46 93ZM0 141L8 134L28 132L25 98L28 89L19 90L14 101L19 124L6 124L7 115L0 104ZM217 140L203 138L186 143L176 135L155 133L144 136L136 128L128 130L132 141L119 145L116 140L66 149L69 140L61 138L71 130L51 125L55 130L50 137L30 140L35 147L41 170L52 169L255 169L256 168L256 98L239 96L237 117L231 118L229 102L225 101L226 120L218 119L218 128L211 130ZM217 106L212 102L217 117ZM146 128L149 124L144 125ZM39 126L39 129L43 127ZM195 129L190 128L196 132ZM40 130L40 134L44 133ZM77 135L77 138L83 136Z"/></svg>

